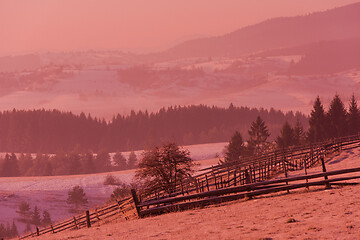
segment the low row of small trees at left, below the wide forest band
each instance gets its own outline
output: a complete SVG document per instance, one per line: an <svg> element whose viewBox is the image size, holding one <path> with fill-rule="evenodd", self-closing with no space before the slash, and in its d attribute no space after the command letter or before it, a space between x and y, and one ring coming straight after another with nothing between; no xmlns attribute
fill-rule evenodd
<svg viewBox="0 0 360 240"><path fill-rule="evenodd" d="M138 162L137 156L131 152L126 159L120 152L113 157L107 152L97 154L63 152L57 154L6 154L0 158L0 177L18 176L57 176L89 174L99 172L133 169Z"/></svg>

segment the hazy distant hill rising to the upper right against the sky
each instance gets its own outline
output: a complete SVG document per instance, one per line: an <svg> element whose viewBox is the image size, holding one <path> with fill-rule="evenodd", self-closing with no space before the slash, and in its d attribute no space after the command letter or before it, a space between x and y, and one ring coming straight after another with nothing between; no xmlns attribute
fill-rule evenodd
<svg viewBox="0 0 360 240"><path fill-rule="evenodd" d="M148 57L157 60L234 57L324 40L357 38L360 37L359 22L360 2L306 16L274 18L223 36L186 41Z"/></svg>

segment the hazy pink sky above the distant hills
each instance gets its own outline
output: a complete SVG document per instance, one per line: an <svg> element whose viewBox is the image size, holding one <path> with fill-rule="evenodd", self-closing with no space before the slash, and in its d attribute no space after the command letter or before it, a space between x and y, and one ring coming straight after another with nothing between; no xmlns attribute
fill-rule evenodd
<svg viewBox="0 0 360 240"><path fill-rule="evenodd" d="M0 56L33 51L154 51L278 16L359 0L0 0Z"/></svg>

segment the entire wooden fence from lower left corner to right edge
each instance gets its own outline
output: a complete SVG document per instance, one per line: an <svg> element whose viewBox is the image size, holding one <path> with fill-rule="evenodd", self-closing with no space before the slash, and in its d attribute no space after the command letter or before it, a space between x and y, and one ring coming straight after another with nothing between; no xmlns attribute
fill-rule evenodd
<svg viewBox="0 0 360 240"><path fill-rule="evenodd" d="M313 145L275 150L261 156L204 168L200 170L200 174L189 177L177 184L175 191L170 194L159 189L153 195L139 196L135 190L132 190L132 197L91 212L87 211L84 215L73 217L43 229L36 228L36 232L25 235L20 239L47 233L57 233L68 229L91 227L94 223L115 216L129 220L134 217L144 217L303 187L309 188L310 186L319 185L329 187L330 184L360 178L360 176L345 176L333 179L328 179L328 176L358 173L360 168L326 172L325 157L335 151L359 146L360 135L355 135ZM319 163L322 163L323 173L307 175L307 169ZM304 170L305 176L287 176L288 171L300 169ZM285 178L268 180L277 174L285 174ZM324 179L319 180L319 178ZM310 182L310 179L318 180ZM304 180L305 182L297 183ZM294 184L290 184L291 182L294 182Z"/></svg>

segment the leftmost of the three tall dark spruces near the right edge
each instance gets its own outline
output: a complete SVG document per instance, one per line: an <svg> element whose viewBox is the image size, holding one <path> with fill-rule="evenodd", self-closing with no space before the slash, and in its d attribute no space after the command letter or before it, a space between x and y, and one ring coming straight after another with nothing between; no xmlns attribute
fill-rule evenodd
<svg viewBox="0 0 360 240"><path fill-rule="evenodd" d="M310 142L320 142L326 138L325 132L325 111L324 107L320 101L320 97L318 96L313 105L313 110L310 114L309 119L309 132L308 138Z"/></svg>

